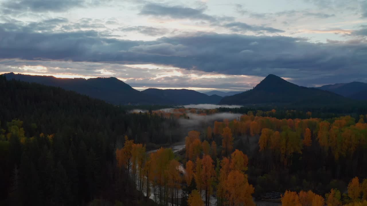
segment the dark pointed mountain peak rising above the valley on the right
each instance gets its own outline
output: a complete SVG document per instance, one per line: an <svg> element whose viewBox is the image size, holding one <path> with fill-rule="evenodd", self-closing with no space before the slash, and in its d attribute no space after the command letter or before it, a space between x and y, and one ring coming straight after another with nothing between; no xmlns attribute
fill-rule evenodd
<svg viewBox="0 0 367 206"><path fill-rule="evenodd" d="M220 104L272 104L292 106L330 106L352 100L329 91L301 87L269 74L254 89L224 97Z"/></svg>

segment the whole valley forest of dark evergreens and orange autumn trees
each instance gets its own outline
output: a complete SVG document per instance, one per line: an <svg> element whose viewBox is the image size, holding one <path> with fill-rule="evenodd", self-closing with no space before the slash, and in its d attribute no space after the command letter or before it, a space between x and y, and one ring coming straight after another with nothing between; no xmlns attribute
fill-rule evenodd
<svg viewBox="0 0 367 206"><path fill-rule="evenodd" d="M0 205L367 205L363 108L131 112L3 76L0 97Z"/></svg>

